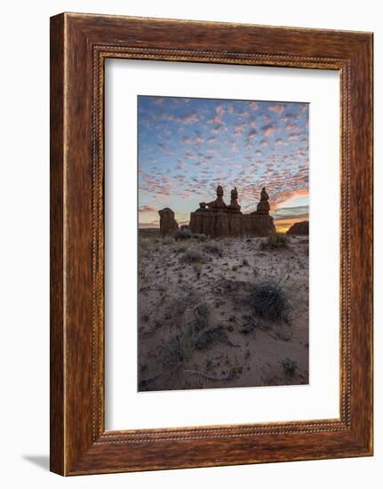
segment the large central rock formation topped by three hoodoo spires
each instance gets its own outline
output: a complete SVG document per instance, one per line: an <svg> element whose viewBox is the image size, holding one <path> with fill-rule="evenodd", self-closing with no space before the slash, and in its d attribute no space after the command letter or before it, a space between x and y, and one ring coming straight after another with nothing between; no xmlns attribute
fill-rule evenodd
<svg viewBox="0 0 383 489"><path fill-rule="evenodd" d="M231 190L230 204L225 203L223 196L224 190L219 185L215 200L201 202L199 209L190 213L189 228L193 233L211 237L275 234L274 220L269 215L270 204L266 188L262 188L257 210L248 214L241 212L236 188Z"/></svg>

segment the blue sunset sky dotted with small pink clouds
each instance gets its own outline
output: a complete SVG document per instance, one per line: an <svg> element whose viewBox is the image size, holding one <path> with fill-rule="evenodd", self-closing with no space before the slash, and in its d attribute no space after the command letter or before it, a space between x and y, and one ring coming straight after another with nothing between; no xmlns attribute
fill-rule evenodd
<svg viewBox="0 0 383 489"><path fill-rule="evenodd" d="M308 219L308 103L140 95L138 143L140 228L164 207L188 224L218 185L242 212L266 187L277 230Z"/></svg>

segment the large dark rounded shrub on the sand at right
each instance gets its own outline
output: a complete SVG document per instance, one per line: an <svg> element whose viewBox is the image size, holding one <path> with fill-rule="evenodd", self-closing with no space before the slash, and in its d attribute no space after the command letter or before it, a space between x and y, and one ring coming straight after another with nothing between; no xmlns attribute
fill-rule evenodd
<svg viewBox="0 0 383 489"><path fill-rule="evenodd" d="M280 282L267 279L253 285L250 295L253 308L268 319L284 319L289 304Z"/></svg>

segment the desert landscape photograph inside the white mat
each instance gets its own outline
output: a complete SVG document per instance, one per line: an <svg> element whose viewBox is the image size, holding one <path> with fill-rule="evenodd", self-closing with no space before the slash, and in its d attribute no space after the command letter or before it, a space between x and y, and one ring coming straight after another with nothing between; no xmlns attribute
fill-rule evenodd
<svg viewBox="0 0 383 489"><path fill-rule="evenodd" d="M309 103L139 95L137 124L138 390L308 384Z"/></svg>

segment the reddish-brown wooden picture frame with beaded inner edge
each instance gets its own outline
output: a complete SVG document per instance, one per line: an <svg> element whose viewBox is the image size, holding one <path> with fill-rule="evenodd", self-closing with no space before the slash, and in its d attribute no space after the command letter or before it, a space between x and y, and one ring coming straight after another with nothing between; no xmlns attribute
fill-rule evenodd
<svg viewBox="0 0 383 489"><path fill-rule="evenodd" d="M339 70L339 419L105 430L106 58ZM371 91L369 33L68 13L52 18L52 471L76 475L371 455Z"/></svg>

